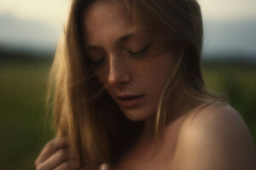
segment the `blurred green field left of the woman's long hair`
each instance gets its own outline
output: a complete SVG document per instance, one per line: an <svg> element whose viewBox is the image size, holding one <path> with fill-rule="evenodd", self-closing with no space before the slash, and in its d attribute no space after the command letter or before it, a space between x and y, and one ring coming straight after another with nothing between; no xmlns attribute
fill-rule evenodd
<svg viewBox="0 0 256 170"><path fill-rule="evenodd" d="M49 60L0 62L0 169L32 170L53 136L45 118Z"/></svg>

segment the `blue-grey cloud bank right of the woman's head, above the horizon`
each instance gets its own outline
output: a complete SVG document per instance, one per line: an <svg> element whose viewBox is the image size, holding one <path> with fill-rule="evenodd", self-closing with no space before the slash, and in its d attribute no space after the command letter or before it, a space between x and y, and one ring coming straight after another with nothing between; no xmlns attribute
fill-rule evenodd
<svg viewBox="0 0 256 170"><path fill-rule="evenodd" d="M247 54L256 57L254 20L206 21L205 54Z"/></svg>

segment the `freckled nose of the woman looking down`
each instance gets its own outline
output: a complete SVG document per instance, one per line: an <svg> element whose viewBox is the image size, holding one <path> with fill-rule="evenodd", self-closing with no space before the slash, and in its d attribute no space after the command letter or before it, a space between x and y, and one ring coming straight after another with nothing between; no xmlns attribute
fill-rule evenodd
<svg viewBox="0 0 256 170"><path fill-rule="evenodd" d="M110 57L109 71L108 71L108 84L117 88L131 82L131 67L121 57Z"/></svg>

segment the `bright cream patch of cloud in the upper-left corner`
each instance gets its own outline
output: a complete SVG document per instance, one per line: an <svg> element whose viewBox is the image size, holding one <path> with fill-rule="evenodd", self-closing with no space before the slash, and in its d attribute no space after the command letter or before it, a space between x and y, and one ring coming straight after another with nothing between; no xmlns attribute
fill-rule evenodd
<svg viewBox="0 0 256 170"><path fill-rule="evenodd" d="M0 14L14 14L20 20L41 20L61 25L71 0L1 0Z"/></svg>

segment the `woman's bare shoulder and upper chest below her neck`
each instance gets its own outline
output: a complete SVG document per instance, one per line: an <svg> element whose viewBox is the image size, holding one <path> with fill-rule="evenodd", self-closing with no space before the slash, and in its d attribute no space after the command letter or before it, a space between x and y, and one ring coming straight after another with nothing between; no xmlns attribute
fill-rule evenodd
<svg viewBox="0 0 256 170"><path fill-rule="evenodd" d="M111 170L255 169L253 140L230 105L200 107L170 123L159 152L153 139L141 139Z"/></svg>

